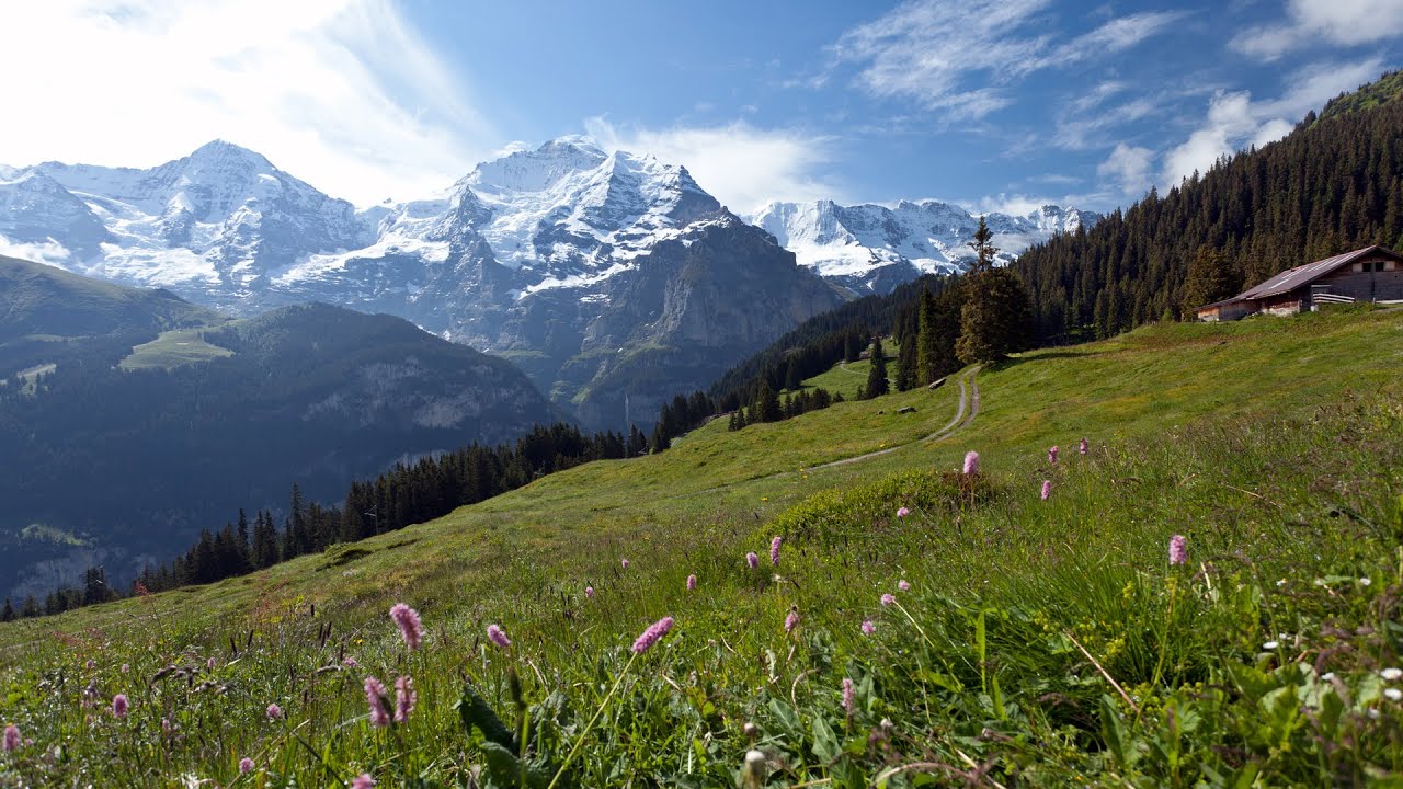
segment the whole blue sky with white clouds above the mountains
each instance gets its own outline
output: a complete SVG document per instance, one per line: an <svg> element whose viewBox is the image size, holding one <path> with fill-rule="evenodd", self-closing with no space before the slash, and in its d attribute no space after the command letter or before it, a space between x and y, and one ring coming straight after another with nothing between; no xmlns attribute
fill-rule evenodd
<svg viewBox="0 0 1403 789"><path fill-rule="evenodd" d="M742 213L1108 211L1403 66L1403 0L45 0L0 29L0 163L217 138L361 206L586 133Z"/></svg>

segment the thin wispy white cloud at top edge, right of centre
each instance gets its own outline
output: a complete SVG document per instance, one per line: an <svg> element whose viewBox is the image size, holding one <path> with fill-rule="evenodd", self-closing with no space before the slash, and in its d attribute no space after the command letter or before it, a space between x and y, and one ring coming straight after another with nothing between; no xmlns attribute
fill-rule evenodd
<svg viewBox="0 0 1403 789"><path fill-rule="evenodd" d="M839 62L863 65L857 81L874 95L912 98L927 110L976 119L1012 104L1002 84L1035 70L1122 52L1183 17L1132 14L1055 44L1045 32L1049 4L912 0L847 31L833 52ZM968 80L975 77L986 84L971 86Z"/></svg>

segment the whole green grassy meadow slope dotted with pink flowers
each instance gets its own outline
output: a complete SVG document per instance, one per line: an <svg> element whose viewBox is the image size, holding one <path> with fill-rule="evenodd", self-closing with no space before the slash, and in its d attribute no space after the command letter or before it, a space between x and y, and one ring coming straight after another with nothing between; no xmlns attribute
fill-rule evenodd
<svg viewBox="0 0 1403 789"><path fill-rule="evenodd" d="M1152 326L982 371L978 418L946 441L918 439L953 416L953 382L711 423L324 556L6 625L0 716L35 744L0 757L0 783L466 785L485 767L477 785L516 786L526 730L544 786L606 696L572 786L734 786L751 748L770 786L1386 779L1400 361L1400 312ZM901 448L811 468L882 444ZM1166 563L1174 533L1190 566ZM417 651L398 601L424 615ZM414 677L408 723L369 726L368 674Z"/></svg>

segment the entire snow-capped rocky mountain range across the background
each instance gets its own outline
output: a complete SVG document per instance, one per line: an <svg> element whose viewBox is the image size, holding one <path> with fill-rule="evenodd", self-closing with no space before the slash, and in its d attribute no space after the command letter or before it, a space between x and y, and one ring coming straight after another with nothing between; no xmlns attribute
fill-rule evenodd
<svg viewBox="0 0 1403 789"><path fill-rule="evenodd" d="M1096 215L986 219L1009 258ZM588 138L362 211L219 140L150 170L0 168L0 251L233 314L309 300L397 314L512 359L593 428L647 425L854 293L958 271L976 223L934 201L741 218L686 167Z"/></svg>

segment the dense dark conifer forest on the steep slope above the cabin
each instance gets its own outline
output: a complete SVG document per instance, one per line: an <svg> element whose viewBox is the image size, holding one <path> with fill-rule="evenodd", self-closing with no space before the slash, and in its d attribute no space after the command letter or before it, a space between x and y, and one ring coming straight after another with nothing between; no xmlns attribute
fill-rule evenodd
<svg viewBox="0 0 1403 789"><path fill-rule="evenodd" d="M1075 343L1191 316L1288 268L1403 246L1403 73L1341 95L1280 142L1225 156L1013 264L1037 337Z"/></svg>

